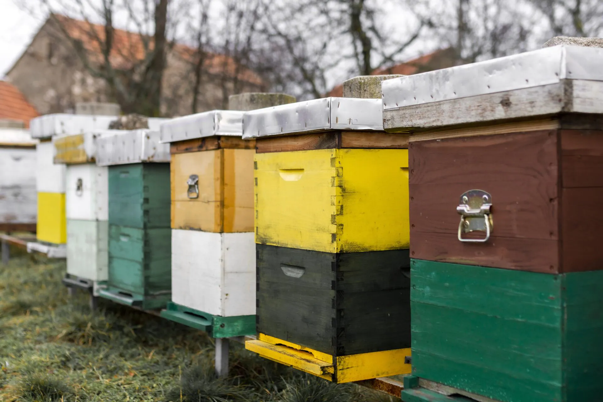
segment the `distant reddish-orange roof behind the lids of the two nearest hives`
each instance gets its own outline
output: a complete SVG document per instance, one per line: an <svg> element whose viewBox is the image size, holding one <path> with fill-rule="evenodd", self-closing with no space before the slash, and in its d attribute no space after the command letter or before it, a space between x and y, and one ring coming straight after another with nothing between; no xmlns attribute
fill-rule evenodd
<svg viewBox="0 0 603 402"><path fill-rule="evenodd" d="M456 50L453 48L440 49L438 51L422 55L406 63L396 64L388 68L376 69L371 75L402 74L412 75L421 72L434 71L449 68L458 64ZM343 96L343 84L334 87L327 96Z"/></svg>

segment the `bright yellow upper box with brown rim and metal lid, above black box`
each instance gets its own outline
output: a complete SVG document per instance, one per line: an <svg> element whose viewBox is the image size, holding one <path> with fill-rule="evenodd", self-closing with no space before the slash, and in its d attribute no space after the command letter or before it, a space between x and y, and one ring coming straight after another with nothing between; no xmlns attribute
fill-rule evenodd
<svg viewBox="0 0 603 402"><path fill-rule="evenodd" d="M384 133L380 99L324 98L250 111L256 243L328 253L409 247L408 137Z"/></svg>

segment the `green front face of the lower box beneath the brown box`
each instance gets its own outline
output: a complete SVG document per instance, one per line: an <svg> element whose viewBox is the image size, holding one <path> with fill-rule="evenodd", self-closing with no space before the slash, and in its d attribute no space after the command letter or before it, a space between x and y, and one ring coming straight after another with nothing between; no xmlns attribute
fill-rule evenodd
<svg viewBox="0 0 603 402"><path fill-rule="evenodd" d="M413 375L505 402L562 401L560 275L412 260Z"/></svg>

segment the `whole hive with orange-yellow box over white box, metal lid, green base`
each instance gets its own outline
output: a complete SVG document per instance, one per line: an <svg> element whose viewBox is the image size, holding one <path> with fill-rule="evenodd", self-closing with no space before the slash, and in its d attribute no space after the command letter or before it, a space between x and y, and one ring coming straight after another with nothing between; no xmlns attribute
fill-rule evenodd
<svg viewBox="0 0 603 402"><path fill-rule="evenodd" d="M255 333L254 142L242 111L161 127L171 152L172 303L163 316L214 338Z"/></svg>

